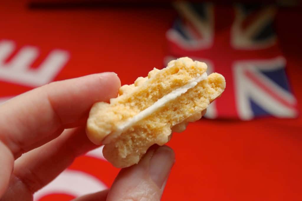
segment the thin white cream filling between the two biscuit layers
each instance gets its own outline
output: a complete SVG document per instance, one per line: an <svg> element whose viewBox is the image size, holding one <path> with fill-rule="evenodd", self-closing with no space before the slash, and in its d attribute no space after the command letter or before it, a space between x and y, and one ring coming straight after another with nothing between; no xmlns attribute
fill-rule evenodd
<svg viewBox="0 0 302 201"><path fill-rule="evenodd" d="M132 118L129 118L127 121L124 121L122 124L117 126L116 131L109 134L104 140L103 144L108 144L119 136L121 133L123 133L128 128L132 127L134 124L136 124L138 121L142 120L143 118L146 118L147 116L151 115L153 112L158 110L159 108L163 107L167 102L170 102L174 99L176 99L178 96L181 96L182 94L186 93L189 89L196 86L199 82L202 80L207 79L207 73L204 72L203 74L197 74L197 77L190 80L186 85L179 87L178 89L173 90L169 94L163 96L162 98L158 99L153 105L150 107L144 109L143 111L139 112L137 115L133 116Z"/></svg>

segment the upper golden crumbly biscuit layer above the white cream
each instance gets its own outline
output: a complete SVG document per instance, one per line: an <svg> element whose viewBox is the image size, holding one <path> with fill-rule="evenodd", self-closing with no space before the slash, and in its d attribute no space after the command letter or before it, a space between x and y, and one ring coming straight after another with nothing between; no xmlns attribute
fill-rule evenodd
<svg viewBox="0 0 302 201"><path fill-rule="evenodd" d="M179 58L170 61L162 70L154 68L147 77L138 77L134 84L121 86L119 96L111 99L110 104L98 102L92 106L87 122L89 139L101 144L119 122L133 117L206 70L207 65L203 62Z"/></svg>

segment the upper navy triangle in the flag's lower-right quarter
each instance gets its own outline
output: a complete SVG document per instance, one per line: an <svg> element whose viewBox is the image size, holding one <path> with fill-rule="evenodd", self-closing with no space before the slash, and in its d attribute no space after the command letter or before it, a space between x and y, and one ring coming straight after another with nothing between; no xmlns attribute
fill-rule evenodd
<svg viewBox="0 0 302 201"><path fill-rule="evenodd" d="M282 87L284 90L291 92L284 68L260 72L266 77L268 77L270 80L274 81L275 84Z"/></svg>

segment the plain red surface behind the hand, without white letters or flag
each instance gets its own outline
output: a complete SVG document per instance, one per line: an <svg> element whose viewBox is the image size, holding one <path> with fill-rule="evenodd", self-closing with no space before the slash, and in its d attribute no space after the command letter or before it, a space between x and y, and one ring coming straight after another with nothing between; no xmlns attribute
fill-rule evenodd
<svg viewBox="0 0 302 201"><path fill-rule="evenodd" d="M0 39L39 47L33 68L54 48L70 59L55 80L115 71L122 84L133 83L167 54L165 32L172 8L28 9L26 2L0 2ZM301 30L297 9L277 15L277 33L301 113ZM18 48L16 51L18 51ZM11 56L13 57L13 55ZM217 58L218 55L217 55ZM227 82L227 80L226 80ZM0 80L0 96L30 87ZM227 105L226 105L227 107ZM162 200L302 200L302 118L252 121L206 120L190 124L168 143L176 162ZM81 156L71 169L94 175L110 186L118 169ZM43 200L69 200L50 195Z"/></svg>

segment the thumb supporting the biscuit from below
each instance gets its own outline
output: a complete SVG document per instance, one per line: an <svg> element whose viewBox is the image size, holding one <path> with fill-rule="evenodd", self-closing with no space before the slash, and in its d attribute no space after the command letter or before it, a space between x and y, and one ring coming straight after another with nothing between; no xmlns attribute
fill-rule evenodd
<svg viewBox="0 0 302 201"><path fill-rule="evenodd" d="M107 201L160 200L174 161L174 152L170 147L152 146L137 165L119 172Z"/></svg>

